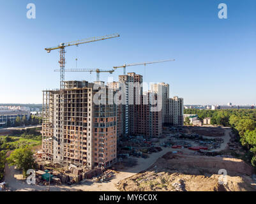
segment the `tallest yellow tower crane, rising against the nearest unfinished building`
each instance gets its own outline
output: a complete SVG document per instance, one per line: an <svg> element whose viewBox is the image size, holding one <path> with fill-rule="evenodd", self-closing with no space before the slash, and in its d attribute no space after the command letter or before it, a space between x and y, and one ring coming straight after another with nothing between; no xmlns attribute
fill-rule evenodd
<svg viewBox="0 0 256 204"><path fill-rule="evenodd" d="M93 38L87 38L84 40L77 40L77 41L72 41L69 43L60 43L56 47L49 47L45 48L48 53L50 53L52 50L59 50L59 66L60 66L60 89L59 89L59 96L60 96L60 110L59 110L59 115L60 115L60 134L59 134L59 139L60 139L60 157L61 157L61 164L63 164L64 161L64 75L65 75L65 64L66 64L66 59L65 59L65 48L70 47L73 45L82 45L86 43L92 43L94 41L100 41L100 40L107 40L110 38L117 38L119 37L119 34L110 34L106 36L101 36L101 37L93 37Z"/></svg>

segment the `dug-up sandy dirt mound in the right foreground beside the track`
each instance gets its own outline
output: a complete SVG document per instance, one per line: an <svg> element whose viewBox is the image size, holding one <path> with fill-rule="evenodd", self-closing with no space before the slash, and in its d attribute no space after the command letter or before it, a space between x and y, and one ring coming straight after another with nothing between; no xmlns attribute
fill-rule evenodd
<svg viewBox="0 0 256 204"><path fill-rule="evenodd" d="M218 170L227 170L227 176ZM148 170L121 180L120 191L256 191L253 169L240 159L167 153ZM225 180L227 179L227 180ZM220 182L225 182L221 184Z"/></svg>

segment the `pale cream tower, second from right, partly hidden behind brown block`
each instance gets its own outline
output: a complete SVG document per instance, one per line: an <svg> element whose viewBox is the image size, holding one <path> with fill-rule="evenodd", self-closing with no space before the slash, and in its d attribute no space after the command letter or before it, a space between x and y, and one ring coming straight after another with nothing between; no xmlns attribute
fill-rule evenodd
<svg viewBox="0 0 256 204"><path fill-rule="evenodd" d="M169 94L170 94L170 85L165 84L164 82L158 83L158 84L151 84L151 91L162 94L162 122L165 123L165 115L168 115L167 112L168 108L168 100L169 100Z"/></svg>

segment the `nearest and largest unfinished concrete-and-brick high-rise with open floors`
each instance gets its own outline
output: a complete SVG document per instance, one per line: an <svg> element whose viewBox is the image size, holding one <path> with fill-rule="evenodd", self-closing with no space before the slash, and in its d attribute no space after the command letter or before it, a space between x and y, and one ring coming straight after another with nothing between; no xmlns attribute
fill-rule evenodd
<svg viewBox="0 0 256 204"><path fill-rule="evenodd" d="M94 89L94 85L86 81L65 82L64 138L60 92L43 91L43 159L91 169L116 163L116 105L108 97L109 87L101 85ZM103 88L105 95L100 95Z"/></svg>

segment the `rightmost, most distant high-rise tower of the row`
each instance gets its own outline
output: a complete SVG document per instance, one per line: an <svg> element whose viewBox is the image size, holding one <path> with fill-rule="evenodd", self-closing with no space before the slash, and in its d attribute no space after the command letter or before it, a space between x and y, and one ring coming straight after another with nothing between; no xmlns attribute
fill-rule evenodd
<svg viewBox="0 0 256 204"><path fill-rule="evenodd" d="M168 114L165 115L165 122L172 126L183 126L183 98L178 98L177 96L174 96L174 98L170 98L167 103Z"/></svg>

